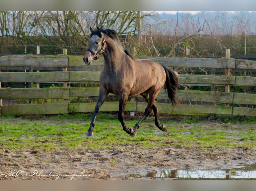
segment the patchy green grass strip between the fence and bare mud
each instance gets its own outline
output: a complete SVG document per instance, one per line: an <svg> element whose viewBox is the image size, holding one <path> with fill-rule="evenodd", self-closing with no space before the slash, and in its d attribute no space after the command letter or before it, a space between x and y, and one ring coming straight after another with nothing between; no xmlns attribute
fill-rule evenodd
<svg viewBox="0 0 256 191"><path fill-rule="evenodd" d="M63 114L53 116L0 116L0 147L11 151L36 149L43 151L60 149L111 149L156 147L191 147L204 149L211 147L252 148L256 145L256 130L250 127L255 118L248 121L236 120L236 125L229 125L227 118L214 121L209 125L200 117L173 116L162 118L168 131L162 132L154 125L150 115L137 131L137 136L130 137L122 130L115 113L99 113L94 136L87 137L92 113ZM125 120L129 127L136 120ZM225 121L225 122L223 122ZM233 122L232 124L234 124ZM218 124L218 125L217 125ZM228 125L227 125L228 124ZM248 125L242 125L248 124ZM216 126L217 125L217 126ZM241 128L239 128L241 126ZM246 128L248 126L248 128ZM116 162L113 160L112 162Z"/></svg>

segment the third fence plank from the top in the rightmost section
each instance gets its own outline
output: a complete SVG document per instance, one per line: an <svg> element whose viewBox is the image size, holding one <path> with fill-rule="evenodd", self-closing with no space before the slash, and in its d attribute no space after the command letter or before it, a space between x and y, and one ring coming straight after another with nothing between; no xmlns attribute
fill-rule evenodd
<svg viewBox="0 0 256 191"><path fill-rule="evenodd" d="M235 104L256 104L256 94L234 93L233 103Z"/></svg>

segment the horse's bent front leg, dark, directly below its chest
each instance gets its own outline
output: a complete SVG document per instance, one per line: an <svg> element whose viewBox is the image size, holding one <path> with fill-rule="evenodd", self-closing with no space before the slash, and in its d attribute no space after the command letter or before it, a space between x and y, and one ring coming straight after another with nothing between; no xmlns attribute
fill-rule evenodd
<svg viewBox="0 0 256 191"><path fill-rule="evenodd" d="M119 96L119 111L118 111L118 120L121 122L123 126L123 130L127 132L128 134L133 134L133 129L128 128L127 125L124 122L124 110L127 103L128 96L120 95Z"/></svg>

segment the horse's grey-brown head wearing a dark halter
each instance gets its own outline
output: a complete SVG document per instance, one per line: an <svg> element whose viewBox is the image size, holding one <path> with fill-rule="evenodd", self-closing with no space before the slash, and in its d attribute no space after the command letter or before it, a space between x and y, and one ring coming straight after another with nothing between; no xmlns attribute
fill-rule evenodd
<svg viewBox="0 0 256 191"><path fill-rule="evenodd" d="M101 29L97 27L97 30L91 30L91 39L89 41L89 47L84 56L84 62L86 64L91 64L93 60L98 60L99 56L104 53L106 48L106 42L104 39L104 34Z"/></svg>

